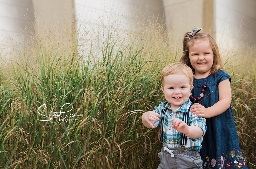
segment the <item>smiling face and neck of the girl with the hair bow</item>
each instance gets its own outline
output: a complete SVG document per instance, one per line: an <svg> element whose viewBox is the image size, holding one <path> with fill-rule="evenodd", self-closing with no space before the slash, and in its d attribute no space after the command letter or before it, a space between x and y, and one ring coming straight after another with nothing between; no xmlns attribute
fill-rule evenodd
<svg viewBox="0 0 256 169"><path fill-rule="evenodd" d="M207 77L214 61L209 40L196 40L195 44L189 47L189 60L197 79Z"/></svg>

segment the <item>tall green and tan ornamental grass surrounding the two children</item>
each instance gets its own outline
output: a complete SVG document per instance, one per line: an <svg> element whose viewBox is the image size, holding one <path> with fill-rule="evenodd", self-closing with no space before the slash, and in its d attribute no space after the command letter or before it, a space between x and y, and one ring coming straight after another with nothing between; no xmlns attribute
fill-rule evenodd
<svg viewBox="0 0 256 169"><path fill-rule="evenodd" d="M164 25L132 22L118 28L125 36L108 25L83 41L35 29L26 47L13 47L12 59L1 56L0 168L157 168L158 130L144 127L141 115L164 100L160 72L182 48L170 43ZM256 66L242 72L226 65L240 147L253 168ZM77 116L41 121L52 112Z"/></svg>

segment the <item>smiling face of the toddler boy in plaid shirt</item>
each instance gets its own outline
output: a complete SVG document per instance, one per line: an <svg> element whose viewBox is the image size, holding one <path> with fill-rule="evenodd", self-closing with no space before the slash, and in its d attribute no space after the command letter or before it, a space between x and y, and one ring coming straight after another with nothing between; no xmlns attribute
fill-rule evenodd
<svg viewBox="0 0 256 169"><path fill-rule="evenodd" d="M165 99L171 104L172 110L185 103L191 92L189 78L184 74L170 74L164 77L164 87L161 86Z"/></svg>

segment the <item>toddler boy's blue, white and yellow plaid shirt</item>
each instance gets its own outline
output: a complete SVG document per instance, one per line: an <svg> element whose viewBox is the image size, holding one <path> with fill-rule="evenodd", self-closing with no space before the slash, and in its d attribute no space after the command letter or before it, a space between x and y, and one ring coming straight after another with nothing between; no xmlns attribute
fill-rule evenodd
<svg viewBox="0 0 256 169"><path fill-rule="evenodd" d="M154 112L158 114L162 114L162 109L168 109L164 116L164 145L172 148L179 148L180 146L180 139L181 139L181 133L172 128L173 121L171 121L172 118L179 118L183 120L183 114L188 111L188 108L191 104L191 101L188 99L186 103L181 105L177 110L173 111L171 109L170 103L167 101L161 102L158 107L155 106ZM154 128L161 125L161 117L160 120L154 121ZM198 126L202 129L202 131L206 132L206 119L197 116L196 114L192 114L189 111L189 120L188 125L189 126ZM202 148L201 143L203 141L204 134L198 138L198 139L192 139L187 138L187 145L185 148L192 149L192 150L200 150Z"/></svg>

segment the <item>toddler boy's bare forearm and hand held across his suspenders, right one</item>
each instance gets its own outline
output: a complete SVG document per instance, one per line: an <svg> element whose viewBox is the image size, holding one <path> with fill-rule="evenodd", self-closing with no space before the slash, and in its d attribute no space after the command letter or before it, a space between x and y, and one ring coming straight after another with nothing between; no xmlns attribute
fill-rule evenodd
<svg viewBox="0 0 256 169"><path fill-rule="evenodd" d="M189 138L197 139L200 138L204 132L198 126L189 126L184 121L180 120L179 118L172 118L173 121L172 127L180 133L185 134Z"/></svg>

